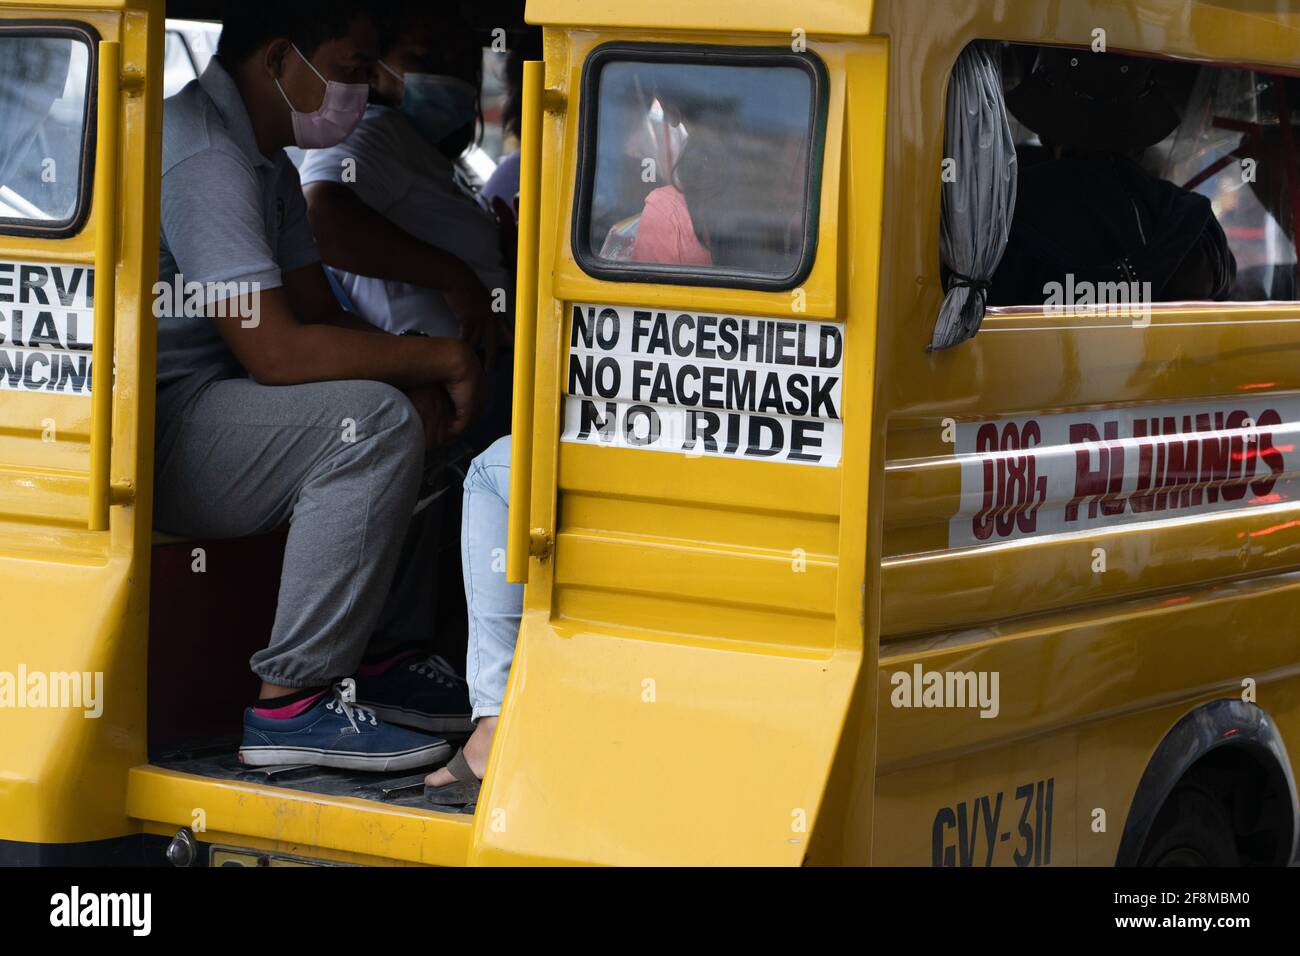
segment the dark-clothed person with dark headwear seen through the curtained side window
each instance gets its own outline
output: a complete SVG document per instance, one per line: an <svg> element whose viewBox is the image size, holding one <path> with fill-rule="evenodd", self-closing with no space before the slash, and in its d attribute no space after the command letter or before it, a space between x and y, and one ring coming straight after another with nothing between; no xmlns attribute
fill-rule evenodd
<svg viewBox="0 0 1300 956"><path fill-rule="evenodd" d="M1178 125L1150 74L1149 60L1044 48L1006 95L1050 159L1019 170L989 304L1041 303L1067 276L1139 284L1153 302L1227 298L1236 261L1210 202L1135 161Z"/></svg>

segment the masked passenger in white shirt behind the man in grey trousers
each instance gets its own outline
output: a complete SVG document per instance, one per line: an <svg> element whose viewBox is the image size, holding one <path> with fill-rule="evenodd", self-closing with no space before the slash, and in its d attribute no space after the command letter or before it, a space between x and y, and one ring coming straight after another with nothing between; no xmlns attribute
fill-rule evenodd
<svg viewBox="0 0 1300 956"><path fill-rule="evenodd" d="M428 3L395 0L380 22L365 116L302 165L321 252L367 321L495 346L514 282L495 217L456 177L477 131L482 53L463 21Z"/></svg>

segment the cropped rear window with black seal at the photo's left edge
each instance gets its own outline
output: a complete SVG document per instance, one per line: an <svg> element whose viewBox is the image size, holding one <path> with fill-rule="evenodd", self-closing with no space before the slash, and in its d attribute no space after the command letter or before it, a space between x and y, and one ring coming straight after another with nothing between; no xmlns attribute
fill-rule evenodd
<svg viewBox="0 0 1300 956"><path fill-rule="evenodd" d="M91 42L75 27L0 30L0 233L57 237L84 219Z"/></svg>

